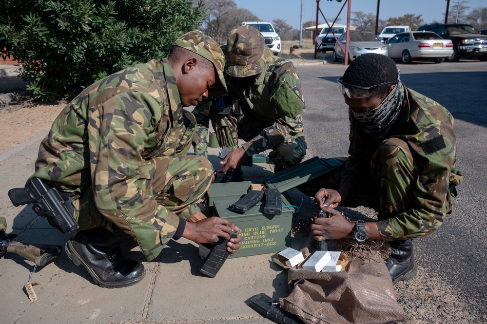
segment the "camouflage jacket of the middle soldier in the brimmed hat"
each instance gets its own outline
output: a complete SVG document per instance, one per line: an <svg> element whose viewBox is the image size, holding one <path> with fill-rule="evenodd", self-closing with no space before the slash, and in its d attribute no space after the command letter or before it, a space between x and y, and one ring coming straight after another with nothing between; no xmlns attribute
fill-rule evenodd
<svg viewBox="0 0 487 324"><path fill-rule="evenodd" d="M226 45L222 46L222 50L228 61ZM266 51L271 52L268 48ZM273 133L273 137L281 134L283 142L303 133L302 116L306 106L301 81L291 61L273 56L266 72L261 73L255 83L246 88L241 88L232 77L225 77L225 81L228 87L227 96L238 99L244 114L265 126L262 132L242 145L247 155L272 149L276 143L269 140L270 133ZM215 98L214 95L209 97L212 100L203 102L193 111L199 126L196 133L202 138L207 136L210 109ZM202 138L196 140L195 152L206 152L206 143Z"/></svg>

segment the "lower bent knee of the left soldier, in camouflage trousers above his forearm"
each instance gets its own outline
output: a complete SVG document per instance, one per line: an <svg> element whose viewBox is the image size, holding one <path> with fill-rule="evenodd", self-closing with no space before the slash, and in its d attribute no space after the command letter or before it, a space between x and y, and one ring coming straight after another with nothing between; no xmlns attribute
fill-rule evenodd
<svg viewBox="0 0 487 324"><path fill-rule="evenodd" d="M155 158L153 192L167 210L188 219L201 211L197 201L210 187L213 166L202 156L164 156Z"/></svg>

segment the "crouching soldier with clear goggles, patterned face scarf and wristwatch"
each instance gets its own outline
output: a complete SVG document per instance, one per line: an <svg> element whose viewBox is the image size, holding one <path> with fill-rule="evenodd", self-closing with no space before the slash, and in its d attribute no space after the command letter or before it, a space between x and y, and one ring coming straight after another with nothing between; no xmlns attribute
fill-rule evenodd
<svg viewBox="0 0 487 324"><path fill-rule="evenodd" d="M411 239L433 233L451 212L464 176L455 167L453 117L437 102L406 88L389 57L357 57L338 79L349 106L350 156L344 169L299 189L331 218L316 218L317 240L354 237L389 241L386 260L393 283L412 278L417 267ZM366 206L378 221L355 224L337 206ZM364 227L365 225L365 227ZM366 233L362 231L363 237Z"/></svg>

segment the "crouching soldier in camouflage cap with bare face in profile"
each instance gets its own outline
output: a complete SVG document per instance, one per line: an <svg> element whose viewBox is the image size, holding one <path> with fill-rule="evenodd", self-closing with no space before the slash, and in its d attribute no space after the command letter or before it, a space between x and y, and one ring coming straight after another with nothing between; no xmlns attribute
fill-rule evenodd
<svg viewBox="0 0 487 324"><path fill-rule="evenodd" d="M80 230L66 252L100 286L130 286L144 277L143 265L119 250L127 238L151 261L171 238L208 243L239 230L218 217L186 221L202 214L196 201L208 189L213 168L201 156L186 155L195 118L182 108L197 105L210 89L227 92L224 65L212 38L189 32L175 41L167 59L129 67L88 87L42 141L32 177L73 198ZM230 253L240 240L231 239Z"/></svg>

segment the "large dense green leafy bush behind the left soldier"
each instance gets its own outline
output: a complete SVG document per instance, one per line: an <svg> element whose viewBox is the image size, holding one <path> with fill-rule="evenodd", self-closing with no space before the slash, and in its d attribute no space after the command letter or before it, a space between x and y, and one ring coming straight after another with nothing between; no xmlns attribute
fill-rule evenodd
<svg viewBox="0 0 487 324"><path fill-rule="evenodd" d="M73 97L95 80L167 57L206 17L203 0L3 0L0 54L21 64L41 100Z"/></svg>

